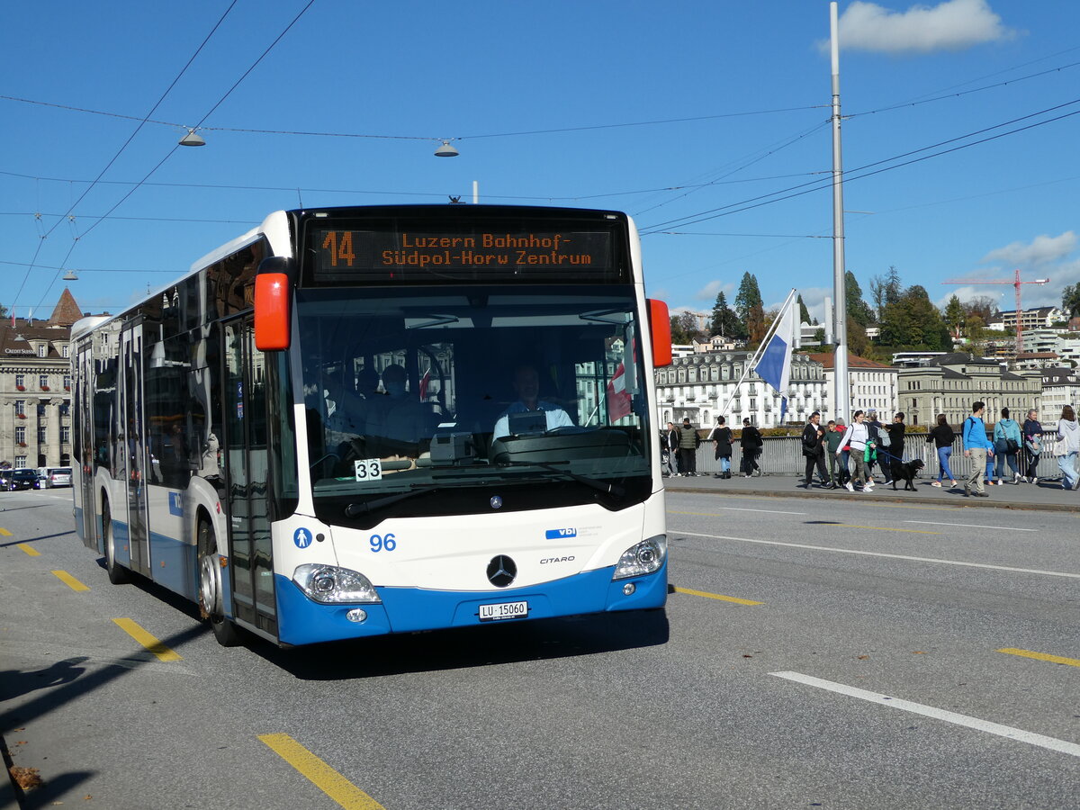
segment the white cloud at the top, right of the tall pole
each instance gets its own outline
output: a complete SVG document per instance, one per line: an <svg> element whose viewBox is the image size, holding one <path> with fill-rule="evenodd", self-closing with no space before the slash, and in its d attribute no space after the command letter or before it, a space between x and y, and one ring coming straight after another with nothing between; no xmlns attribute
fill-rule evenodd
<svg viewBox="0 0 1080 810"><path fill-rule="evenodd" d="M840 16L839 28L840 48L890 54L960 51L1016 36L987 0L944 0L904 12L855 0ZM824 45L827 51L828 42Z"/></svg>

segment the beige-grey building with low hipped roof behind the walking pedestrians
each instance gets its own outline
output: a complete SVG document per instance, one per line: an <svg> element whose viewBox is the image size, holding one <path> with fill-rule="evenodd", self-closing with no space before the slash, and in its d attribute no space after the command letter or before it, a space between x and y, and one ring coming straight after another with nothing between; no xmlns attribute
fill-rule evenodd
<svg viewBox="0 0 1080 810"><path fill-rule="evenodd" d="M997 361L963 352L901 368L897 389L897 409L906 414L908 424L933 426L937 415L944 414L950 424L958 426L976 401L986 403L988 423L997 420L1002 407L1023 419L1028 408L1040 409L1042 403L1039 372L1014 374Z"/></svg>

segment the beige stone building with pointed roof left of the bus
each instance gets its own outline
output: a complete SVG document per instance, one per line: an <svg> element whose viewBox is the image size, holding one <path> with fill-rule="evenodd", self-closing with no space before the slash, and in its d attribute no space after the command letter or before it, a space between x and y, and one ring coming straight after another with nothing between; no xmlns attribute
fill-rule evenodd
<svg viewBox="0 0 1080 810"><path fill-rule="evenodd" d="M48 321L0 323L0 468L71 464L71 325L67 289Z"/></svg>

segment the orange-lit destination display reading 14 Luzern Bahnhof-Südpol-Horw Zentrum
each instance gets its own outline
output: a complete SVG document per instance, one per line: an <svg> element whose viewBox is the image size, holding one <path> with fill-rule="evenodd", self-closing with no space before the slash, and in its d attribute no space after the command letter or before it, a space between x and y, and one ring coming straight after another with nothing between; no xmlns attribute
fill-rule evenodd
<svg viewBox="0 0 1080 810"><path fill-rule="evenodd" d="M612 234L605 230L450 234L315 229L311 235L315 279L322 283L421 281L432 274L540 280L582 271L598 279L612 271Z"/></svg>

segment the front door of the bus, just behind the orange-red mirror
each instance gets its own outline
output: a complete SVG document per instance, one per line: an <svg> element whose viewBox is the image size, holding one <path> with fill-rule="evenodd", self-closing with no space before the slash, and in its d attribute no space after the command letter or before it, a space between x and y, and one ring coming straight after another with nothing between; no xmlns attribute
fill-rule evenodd
<svg viewBox="0 0 1080 810"><path fill-rule="evenodd" d="M229 570L235 617L278 637L273 550L267 514L266 362L251 315L221 329Z"/></svg>

